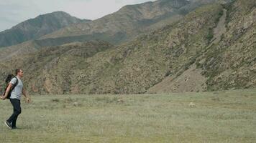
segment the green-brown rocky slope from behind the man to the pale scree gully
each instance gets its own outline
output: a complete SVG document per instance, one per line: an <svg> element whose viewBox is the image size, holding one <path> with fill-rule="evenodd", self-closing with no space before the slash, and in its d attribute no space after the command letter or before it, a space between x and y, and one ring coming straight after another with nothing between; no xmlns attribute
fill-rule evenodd
<svg viewBox="0 0 256 143"><path fill-rule="evenodd" d="M41 49L38 54L27 55L27 58L13 58L10 65L21 65L27 71L25 81L29 81L29 92L144 93L170 72L176 73L193 61L193 56L208 44L209 29L216 26L221 10L219 4L202 7L177 24L90 57L63 54L57 46L55 49L60 50L57 55ZM38 59L38 56L42 58ZM47 68L48 64L54 68ZM35 78L37 80L32 80ZM48 89L48 84L57 89Z"/></svg>

